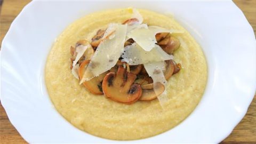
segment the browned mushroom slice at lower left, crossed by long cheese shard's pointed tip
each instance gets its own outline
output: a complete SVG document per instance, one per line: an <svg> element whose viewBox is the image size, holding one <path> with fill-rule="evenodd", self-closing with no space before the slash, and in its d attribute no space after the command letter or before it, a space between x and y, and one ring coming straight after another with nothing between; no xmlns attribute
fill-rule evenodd
<svg viewBox="0 0 256 144"><path fill-rule="evenodd" d="M78 75L79 79L81 80L84 74L84 71L87 68L87 65L89 64L90 60L85 60L81 66L79 67ZM102 81L103 78L107 75L108 71L100 74L97 77L93 77L90 81L85 81L83 85L86 87L87 90L89 90L93 94L103 94L102 91Z"/></svg>

